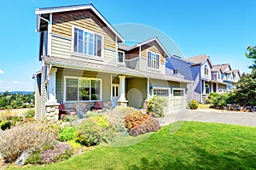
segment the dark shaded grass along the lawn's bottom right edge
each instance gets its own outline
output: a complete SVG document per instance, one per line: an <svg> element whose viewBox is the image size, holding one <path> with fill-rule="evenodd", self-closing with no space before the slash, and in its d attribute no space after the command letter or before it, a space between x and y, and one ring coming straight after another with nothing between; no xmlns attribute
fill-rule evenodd
<svg viewBox="0 0 256 170"><path fill-rule="evenodd" d="M181 157L166 160L164 163L152 158L143 157L137 164L125 167L126 170L154 170L154 169L255 169L256 157L253 153L241 151L239 154L228 151L223 155L216 156L201 150L200 147L194 147L194 161L188 162Z"/></svg>

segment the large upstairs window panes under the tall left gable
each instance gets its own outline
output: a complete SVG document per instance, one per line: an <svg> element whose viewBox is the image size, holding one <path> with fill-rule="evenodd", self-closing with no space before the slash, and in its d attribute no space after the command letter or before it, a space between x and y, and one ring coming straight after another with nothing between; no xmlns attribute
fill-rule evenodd
<svg viewBox="0 0 256 170"><path fill-rule="evenodd" d="M73 30L73 51L102 56L102 36L78 28Z"/></svg>

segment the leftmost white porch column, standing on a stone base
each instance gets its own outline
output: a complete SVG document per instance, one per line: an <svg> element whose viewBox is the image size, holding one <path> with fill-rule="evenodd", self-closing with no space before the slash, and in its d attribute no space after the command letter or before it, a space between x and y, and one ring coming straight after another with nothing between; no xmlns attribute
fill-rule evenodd
<svg viewBox="0 0 256 170"><path fill-rule="evenodd" d="M57 103L56 100L56 68L52 68L49 73L49 84L48 84L48 101L47 103Z"/></svg>

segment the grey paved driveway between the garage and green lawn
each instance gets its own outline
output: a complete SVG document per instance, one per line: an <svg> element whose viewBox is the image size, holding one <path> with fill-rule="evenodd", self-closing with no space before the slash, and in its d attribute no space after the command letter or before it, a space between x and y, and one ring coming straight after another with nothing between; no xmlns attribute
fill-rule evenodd
<svg viewBox="0 0 256 170"><path fill-rule="evenodd" d="M160 118L161 125L177 121L219 122L256 127L256 112L218 111L214 109L172 111Z"/></svg>

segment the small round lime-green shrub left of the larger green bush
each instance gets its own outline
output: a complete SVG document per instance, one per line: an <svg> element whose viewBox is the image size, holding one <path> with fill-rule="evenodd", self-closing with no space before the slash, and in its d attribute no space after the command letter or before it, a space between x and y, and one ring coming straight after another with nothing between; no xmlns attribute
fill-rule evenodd
<svg viewBox="0 0 256 170"><path fill-rule="evenodd" d="M58 137L61 141L67 141L75 139L78 135L76 127L62 127L61 131L58 133Z"/></svg>

